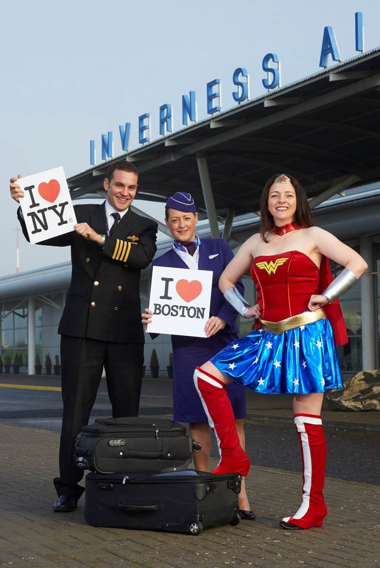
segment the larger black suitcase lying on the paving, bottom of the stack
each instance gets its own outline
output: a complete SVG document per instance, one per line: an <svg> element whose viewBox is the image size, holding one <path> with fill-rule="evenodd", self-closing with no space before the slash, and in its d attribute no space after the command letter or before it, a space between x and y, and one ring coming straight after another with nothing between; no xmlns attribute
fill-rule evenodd
<svg viewBox="0 0 380 568"><path fill-rule="evenodd" d="M237 525L238 474L204 471L86 477L85 519L95 527L200 534L203 528Z"/></svg>

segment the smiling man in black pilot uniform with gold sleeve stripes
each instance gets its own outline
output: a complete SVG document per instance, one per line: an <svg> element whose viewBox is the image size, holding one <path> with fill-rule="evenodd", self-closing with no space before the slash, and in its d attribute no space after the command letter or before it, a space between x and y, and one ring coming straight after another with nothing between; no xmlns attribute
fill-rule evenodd
<svg viewBox="0 0 380 568"><path fill-rule="evenodd" d="M18 178L21 176L19 175ZM23 191L11 178L11 196ZM84 488L74 464L78 432L89 420L103 366L112 415L137 416L144 362L140 271L156 252L157 223L131 211L138 174L127 161L112 164L104 181L107 201L75 205L74 231L39 244L71 247L72 280L58 328L61 334L62 431L56 512L73 511ZM18 218L28 233L20 208Z"/></svg>

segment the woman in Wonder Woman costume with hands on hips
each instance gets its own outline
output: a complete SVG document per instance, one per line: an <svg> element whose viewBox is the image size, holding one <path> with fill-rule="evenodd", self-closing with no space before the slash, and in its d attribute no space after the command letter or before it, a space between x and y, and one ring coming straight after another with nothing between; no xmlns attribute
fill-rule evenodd
<svg viewBox="0 0 380 568"><path fill-rule="evenodd" d="M328 258L344 266L333 280ZM235 283L250 268L256 306ZM306 194L292 176L271 177L261 197L261 230L240 248L219 280L225 298L254 329L232 342L194 373L220 462L212 473L249 471L239 444L226 385L233 381L263 394L293 395L294 424L303 461L302 503L284 529L321 527L326 442L321 421L323 393L343 387L335 344L347 342L337 298L367 268L364 259L336 237L314 227ZM322 309L323 308L323 309Z"/></svg>

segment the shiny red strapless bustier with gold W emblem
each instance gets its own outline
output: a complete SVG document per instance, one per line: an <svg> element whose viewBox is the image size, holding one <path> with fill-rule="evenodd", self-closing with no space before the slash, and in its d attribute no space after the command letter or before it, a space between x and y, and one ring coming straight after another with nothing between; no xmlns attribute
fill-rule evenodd
<svg viewBox="0 0 380 568"><path fill-rule="evenodd" d="M263 320L280 321L301 314L310 296L319 294L319 268L298 250L257 256L250 274Z"/></svg>

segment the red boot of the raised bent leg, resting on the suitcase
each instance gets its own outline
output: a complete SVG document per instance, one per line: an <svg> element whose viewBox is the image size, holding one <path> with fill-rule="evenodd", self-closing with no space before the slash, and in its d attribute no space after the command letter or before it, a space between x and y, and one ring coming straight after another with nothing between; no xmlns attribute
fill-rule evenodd
<svg viewBox="0 0 380 568"><path fill-rule="evenodd" d="M211 473L247 475L249 459L241 448L239 436L237 436L235 417L226 385L200 367L194 371L194 384L201 398L204 412L206 412L208 424L214 430L218 442L220 462Z"/></svg>

